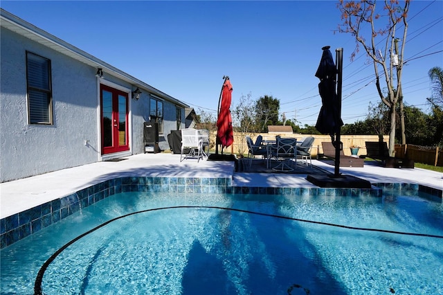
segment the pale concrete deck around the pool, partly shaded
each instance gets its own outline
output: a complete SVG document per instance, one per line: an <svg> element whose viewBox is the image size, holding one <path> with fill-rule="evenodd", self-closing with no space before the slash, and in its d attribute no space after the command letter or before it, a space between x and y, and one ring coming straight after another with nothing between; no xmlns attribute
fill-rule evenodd
<svg viewBox="0 0 443 295"><path fill-rule="evenodd" d="M312 164L334 173L334 166L312 160ZM343 175L360 177L374 183L421 184L443 190L443 173L420 168L383 168L365 162L363 168L340 168ZM314 188L307 175L234 172L232 161L180 162L179 154L136 154L122 161L102 161L74 168L8 181L0 184L0 218L25 211L53 199L71 195L108 179L141 177L233 177L233 186Z"/></svg>

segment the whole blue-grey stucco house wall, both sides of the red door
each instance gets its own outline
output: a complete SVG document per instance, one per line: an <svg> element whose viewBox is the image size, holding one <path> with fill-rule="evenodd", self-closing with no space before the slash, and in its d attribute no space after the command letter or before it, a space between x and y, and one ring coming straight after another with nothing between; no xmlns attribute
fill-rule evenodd
<svg viewBox="0 0 443 295"><path fill-rule="evenodd" d="M116 74L105 71L102 79L96 78L96 67L3 26L0 38L0 182L144 152L143 122L150 113L146 89L134 100L132 84ZM51 60L53 125L28 124L26 51ZM127 152L101 154L100 82L129 93ZM167 135L177 129L176 104L165 100L163 107L161 149L167 150Z"/></svg>

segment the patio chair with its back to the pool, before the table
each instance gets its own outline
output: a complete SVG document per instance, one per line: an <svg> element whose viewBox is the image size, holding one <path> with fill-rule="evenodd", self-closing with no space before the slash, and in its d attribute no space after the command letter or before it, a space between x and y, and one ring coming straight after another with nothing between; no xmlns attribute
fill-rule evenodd
<svg viewBox="0 0 443 295"><path fill-rule="evenodd" d="M296 162L297 167L297 139L278 138L275 145L271 147L271 157L280 161L272 170L280 172L293 171L293 162ZM290 166L287 164L288 161L291 163Z"/></svg>

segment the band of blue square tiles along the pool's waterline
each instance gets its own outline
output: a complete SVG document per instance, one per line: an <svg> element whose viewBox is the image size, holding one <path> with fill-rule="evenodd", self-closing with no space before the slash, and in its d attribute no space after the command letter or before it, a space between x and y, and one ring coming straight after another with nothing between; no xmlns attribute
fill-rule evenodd
<svg viewBox="0 0 443 295"><path fill-rule="evenodd" d="M232 177L116 177L0 220L0 249L117 193L228 193L290 196L381 197L383 190L418 190L442 199L442 190L422 184L377 183L372 188L233 186Z"/></svg>

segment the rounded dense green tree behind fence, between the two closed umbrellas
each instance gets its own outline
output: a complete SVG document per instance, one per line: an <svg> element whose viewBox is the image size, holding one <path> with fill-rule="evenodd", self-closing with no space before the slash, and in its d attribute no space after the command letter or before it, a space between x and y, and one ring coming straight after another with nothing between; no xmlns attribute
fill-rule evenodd
<svg viewBox="0 0 443 295"><path fill-rule="evenodd" d="M268 132L268 125L279 125L278 111L280 100L272 96L262 96L255 103L257 132Z"/></svg>

